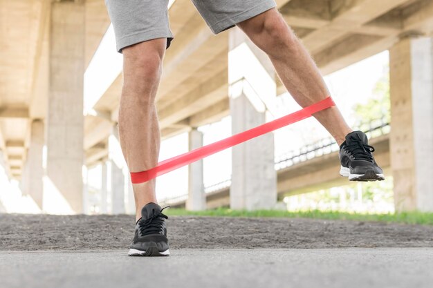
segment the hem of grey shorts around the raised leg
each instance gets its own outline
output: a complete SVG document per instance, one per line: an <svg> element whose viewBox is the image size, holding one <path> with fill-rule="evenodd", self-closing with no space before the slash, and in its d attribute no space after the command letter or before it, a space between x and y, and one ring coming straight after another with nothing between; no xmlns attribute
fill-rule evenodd
<svg viewBox="0 0 433 288"><path fill-rule="evenodd" d="M243 11L238 15L230 17L230 19L223 19L216 23L210 23L209 24L210 30L212 30L212 32L216 35L219 32L223 32L224 30L228 30L236 26L236 24L239 22L255 17L263 12L275 8L276 6L277 5L275 4L274 0L263 1L257 6L254 6L246 11Z"/></svg>

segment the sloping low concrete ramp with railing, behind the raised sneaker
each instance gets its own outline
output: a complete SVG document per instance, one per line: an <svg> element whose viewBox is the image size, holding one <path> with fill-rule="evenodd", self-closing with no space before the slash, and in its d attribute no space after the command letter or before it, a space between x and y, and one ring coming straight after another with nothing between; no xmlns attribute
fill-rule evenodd
<svg viewBox="0 0 433 288"><path fill-rule="evenodd" d="M373 132L373 133L371 133ZM384 169L385 175L391 175L391 163L389 157L389 125L383 124L367 131L371 135L370 144L376 149L375 158ZM277 171L277 195L279 199L284 196L297 195L329 189L335 186L348 184L347 178L341 177L340 162L335 142L328 139L326 144L319 148L293 153L288 157L282 157L275 163ZM322 141L323 142L323 141ZM230 179L214 186L205 187L206 207L214 209L218 207L230 207ZM163 200L164 204L171 207L185 207L188 195Z"/></svg>

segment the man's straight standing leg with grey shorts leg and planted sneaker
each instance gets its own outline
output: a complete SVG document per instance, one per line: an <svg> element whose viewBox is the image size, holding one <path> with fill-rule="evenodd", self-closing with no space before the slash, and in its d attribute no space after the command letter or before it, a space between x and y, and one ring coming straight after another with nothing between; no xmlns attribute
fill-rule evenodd
<svg viewBox="0 0 433 288"><path fill-rule="evenodd" d="M158 164L160 133L155 96L165 49L173 39L168 1L105 0L116 48L123 53L119 136L130 172L146 171ZM129 256L169 255L167 215L156 204L155 183L133 184L137 221Z"/></svg>

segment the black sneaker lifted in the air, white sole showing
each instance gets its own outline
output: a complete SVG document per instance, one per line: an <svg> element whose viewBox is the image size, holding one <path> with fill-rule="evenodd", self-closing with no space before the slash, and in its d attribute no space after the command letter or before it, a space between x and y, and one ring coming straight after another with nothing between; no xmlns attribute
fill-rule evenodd
<svg viewBox="0 0 433 288"><path fill-rule="evenodd" d="M382 181L383 171L374 160L373 146L369 145L367 135L354 131L346 136L340 146L340 175L350 181Z"/></svg>

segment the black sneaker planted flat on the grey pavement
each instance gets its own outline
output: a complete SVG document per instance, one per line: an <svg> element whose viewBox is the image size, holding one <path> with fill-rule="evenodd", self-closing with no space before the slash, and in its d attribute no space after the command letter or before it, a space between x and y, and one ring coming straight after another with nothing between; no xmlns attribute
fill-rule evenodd
<svg viewBox="0 0 433 288"><path fill-rule="evenodd" d="M129 246L129 256L170 255L165 227L168 217L162 213L164 209L155 203L142 207L141 218L136 223L136 233Z"/></svg>

